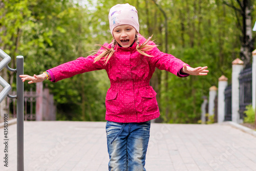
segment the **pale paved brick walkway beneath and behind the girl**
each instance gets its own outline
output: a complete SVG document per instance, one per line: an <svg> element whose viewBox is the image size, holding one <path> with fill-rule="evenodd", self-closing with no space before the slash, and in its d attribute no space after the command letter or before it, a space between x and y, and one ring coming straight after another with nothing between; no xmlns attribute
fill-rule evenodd
<svg viewBox="0 0 256 171"><path fill-rule="evenodd" d="M105 122L25 121L25 170L106 171ZM16 124L9 125L9 161L16 170ZM152 123L147 171L256 170L256 137L225 124Z"/></svg>

